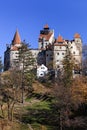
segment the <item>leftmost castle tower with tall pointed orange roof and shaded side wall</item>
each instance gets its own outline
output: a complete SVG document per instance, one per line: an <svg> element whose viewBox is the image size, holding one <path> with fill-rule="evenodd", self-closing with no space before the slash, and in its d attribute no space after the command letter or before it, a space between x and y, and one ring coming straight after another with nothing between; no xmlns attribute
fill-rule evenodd
<svg viewBox="0 0 87 130"><path fill-rule="evenodd" d="M18 30L16 30L11 45L7 47L4 52L4 70L15 67L15 60L18 59L19 47L21 47L21 38Z"/></svg>

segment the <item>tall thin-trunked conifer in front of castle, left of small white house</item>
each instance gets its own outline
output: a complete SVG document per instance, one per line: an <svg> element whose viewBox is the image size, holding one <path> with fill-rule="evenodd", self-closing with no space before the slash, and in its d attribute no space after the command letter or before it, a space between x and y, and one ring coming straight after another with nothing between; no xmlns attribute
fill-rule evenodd
<svg viewBox="0 0 87 130"><path fill-rule="evenodd" d="M19 48L19 57L16 61L17 66L21 72L21 89L22 89L22 103L24 102L24 90L26 86L28 89L32 87L32 82L34 79L34 63L35 60L33 58L32 52L29 49L29 45L25 42L21 43L21 47Z"/></svg>

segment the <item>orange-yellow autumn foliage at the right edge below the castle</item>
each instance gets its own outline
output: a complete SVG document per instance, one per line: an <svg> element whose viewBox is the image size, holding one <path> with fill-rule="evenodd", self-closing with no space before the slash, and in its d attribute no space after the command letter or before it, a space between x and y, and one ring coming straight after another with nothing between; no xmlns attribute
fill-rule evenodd
<svg viewBox="0 0 87 130"><path fill-rule="evenodd" d="M87 103L87 83L85 81L86 79L84 78L77 78L70 88L74 103Z"/></svg>

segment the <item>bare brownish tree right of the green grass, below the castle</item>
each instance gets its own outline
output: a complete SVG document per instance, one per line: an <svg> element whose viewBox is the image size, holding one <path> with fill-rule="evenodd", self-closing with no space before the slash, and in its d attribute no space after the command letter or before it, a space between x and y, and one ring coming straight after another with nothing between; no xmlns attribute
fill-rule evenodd
<svg viewBox="0 0 87 130"><path fill-rule="evenodd" d="M59 120L59 129L63 130L65 128L65 122L69 121L69 116L71 114L71 95L69 88L65 88L62 85L62 81L55 83L54 87L54 97L55 97L55 109L57 111L57 120Z"/></svg>

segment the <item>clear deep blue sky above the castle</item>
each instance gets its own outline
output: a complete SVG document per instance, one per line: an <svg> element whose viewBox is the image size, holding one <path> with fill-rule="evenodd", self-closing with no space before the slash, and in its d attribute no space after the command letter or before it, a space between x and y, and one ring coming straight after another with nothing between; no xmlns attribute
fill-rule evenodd
<svg viewBox="0 0 87 130"><path fill-rule="evenodd" d="M87 43L87 0L0 0L0 56L16 29L21 40L37 48L45 24L54 29L55 37L72 40L78 32Z"/></svg>

